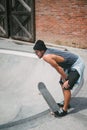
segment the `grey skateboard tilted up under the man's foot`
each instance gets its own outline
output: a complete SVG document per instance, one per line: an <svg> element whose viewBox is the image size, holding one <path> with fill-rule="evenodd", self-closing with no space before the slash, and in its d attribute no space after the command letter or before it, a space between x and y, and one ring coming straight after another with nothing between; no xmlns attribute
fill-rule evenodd
<svg viewBox="0 0 87 130"><path fill-rule="evenodd" d="M54 100L53 96L50 94L48 89L46 88L45 84L43 82L38 83L38 89L40 93L42 94L43 98L47 102L51 112L55 117L58 117L60 108L57 105L56 101Z"/></svg>

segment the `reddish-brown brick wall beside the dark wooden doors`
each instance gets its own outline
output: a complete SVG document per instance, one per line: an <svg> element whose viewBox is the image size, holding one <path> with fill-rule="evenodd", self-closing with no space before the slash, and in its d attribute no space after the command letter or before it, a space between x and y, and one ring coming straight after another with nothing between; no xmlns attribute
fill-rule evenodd
<svg viewBox="0 0 87 130"><path fill-rule="evenodd" d="M87 0L36 0L36 39L87 48Z"/></svg>

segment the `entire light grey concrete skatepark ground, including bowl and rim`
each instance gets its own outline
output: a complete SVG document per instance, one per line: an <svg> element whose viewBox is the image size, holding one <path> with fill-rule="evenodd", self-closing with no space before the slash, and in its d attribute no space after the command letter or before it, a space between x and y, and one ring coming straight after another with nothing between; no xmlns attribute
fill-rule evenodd
<svg viewBox="0 0 87 130"><path fill-rule="evenodd" d="M44 82L56 102L63 100L58 73L33 52L33 44L0 39L0 129L1 130L87 130L87 50L66 46L85 62L84 84L73 90L72 109L62 118L50 114L37 86ZM77 93L75 94L75 91Z"/></svg>

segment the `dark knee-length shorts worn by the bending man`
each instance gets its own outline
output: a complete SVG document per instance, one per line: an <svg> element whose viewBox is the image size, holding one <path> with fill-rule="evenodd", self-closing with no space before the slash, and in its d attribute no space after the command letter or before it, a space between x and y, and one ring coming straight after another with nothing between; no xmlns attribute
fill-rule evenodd
<svg viewBox="0 0 87 130"><path fill-rule="evenodd" d="M68 71L68 77L67 77L67 80L69 81L69 88L68 89L72 89L73 86L76 84L77 80L79 79L80 75L78 73L77 70L69 70ZM61 85L63 85L63 82L62 82L62 79L60 79L59 83Z"/></svg>

